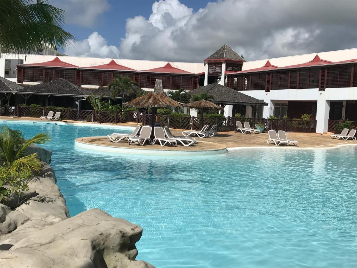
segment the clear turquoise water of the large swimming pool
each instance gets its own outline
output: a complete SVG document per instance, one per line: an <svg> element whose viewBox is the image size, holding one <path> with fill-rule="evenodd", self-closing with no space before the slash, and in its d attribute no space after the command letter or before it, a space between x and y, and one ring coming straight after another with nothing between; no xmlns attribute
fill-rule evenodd
<svg viewBox="0 0 357 268"><path fill-rule="evenodd" d="M74 139L131 130L3 124L50 133L70 214L100 208L139 224L137 259L156 267L357 267L357 147L111 155Z"/></svg>

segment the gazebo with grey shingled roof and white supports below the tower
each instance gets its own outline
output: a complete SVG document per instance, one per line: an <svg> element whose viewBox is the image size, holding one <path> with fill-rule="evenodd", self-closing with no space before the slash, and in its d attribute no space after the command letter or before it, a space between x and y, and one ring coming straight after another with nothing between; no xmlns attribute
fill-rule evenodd
<svg viewBox="0 0 357 268"><path fill-rule="evenodd" d="M206 92L214 97L211 102L220 105L225 110L225 116L234 116L235 113L246 113L246 107L252 111L251 116L256 117L256 111L259 106L268 105L263 100L258 100L234 89L228 88L217 83L201 86L190 91L187 91L190 95L198 95L202 92ZM243 116L245 116L244 114Z"/></svg>

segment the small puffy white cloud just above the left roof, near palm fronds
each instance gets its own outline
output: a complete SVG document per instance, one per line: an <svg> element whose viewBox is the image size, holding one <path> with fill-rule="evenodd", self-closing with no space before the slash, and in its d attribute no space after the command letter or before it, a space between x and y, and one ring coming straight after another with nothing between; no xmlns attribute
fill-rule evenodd
<svg viewBox="0 0 357 268"><path fill-rule="evenodd" d="M119 49L107 45L107 40L98 32L92 33L87 39L77 41L75 45L66 48L65 54L80 57L119 58Z"/></svg>

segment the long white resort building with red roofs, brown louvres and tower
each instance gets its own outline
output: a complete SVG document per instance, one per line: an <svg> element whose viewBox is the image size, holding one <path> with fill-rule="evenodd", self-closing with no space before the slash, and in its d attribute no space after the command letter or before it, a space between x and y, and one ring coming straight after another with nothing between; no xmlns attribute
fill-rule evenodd
<svg viewBox="0 0 357 268"><path fill-rule="evenodd" d="M11 90L10 94L1 87L1 104L6 104L5 98L11 105L24 103L30 98L25 96L27 92L39 95L33 101L42 98L41 104L74 97L67 105L77 108L84 92L99 95L117 74L129 76L146 91L154 90L156 79L162 80L165 91L211 90L217 95L214 102L224 106L226 117L235 113L254 118L310 114L317 120L317 133L327 132L329 119L357 121L357 48L245 61L225 44L202 63L3 53L0 76L26 90ZM45 90L48 86L26 88L61 78L84 91L80 94L76 88L72 90L77 92L75 96L69 95L58 87L63 81L57 81L56 90L49 92ZM253 101L242 101L249 98ZM63 99L57 102L63 103ZM191 115L195 115L193 111Z"/></svg>

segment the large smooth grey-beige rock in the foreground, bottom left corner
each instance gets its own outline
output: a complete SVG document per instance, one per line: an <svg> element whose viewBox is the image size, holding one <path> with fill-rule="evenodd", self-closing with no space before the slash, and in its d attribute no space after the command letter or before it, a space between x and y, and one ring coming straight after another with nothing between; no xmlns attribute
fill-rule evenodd
<svg viewBox="0 0 357 268"><path fill-rule="evenodd" d="M1 267L153 267L135 260L142 229L100 209L51 225L1 252Z"/></svg>

